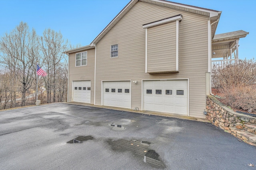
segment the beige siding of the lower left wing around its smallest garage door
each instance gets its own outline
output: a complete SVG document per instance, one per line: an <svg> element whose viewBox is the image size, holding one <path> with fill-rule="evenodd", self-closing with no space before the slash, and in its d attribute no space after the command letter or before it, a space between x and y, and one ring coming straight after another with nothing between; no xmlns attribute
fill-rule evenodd
<svg viewBox="0 0 256 170"><path fill-rule="evenodd" d="M84 51L81 51L84 52ZM78 52L80 53L80 52ZM72 101L72 81L90 80L91 81L91 104L94 104L94 63L95 49L87 50L87 65L76 67L76 53L69 54L69 87L68 87L68 102Z"/></svg>

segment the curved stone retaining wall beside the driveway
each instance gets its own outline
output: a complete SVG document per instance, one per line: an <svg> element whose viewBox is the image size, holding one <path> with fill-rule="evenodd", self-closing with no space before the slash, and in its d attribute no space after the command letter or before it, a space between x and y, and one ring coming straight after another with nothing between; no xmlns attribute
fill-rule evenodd
<svg viewBox="0 0 256 170"><path fill-rule="evenodd" d="M256 117L236 113L214 96L206 97L206 119L242 141L256 146Z"/></svg>

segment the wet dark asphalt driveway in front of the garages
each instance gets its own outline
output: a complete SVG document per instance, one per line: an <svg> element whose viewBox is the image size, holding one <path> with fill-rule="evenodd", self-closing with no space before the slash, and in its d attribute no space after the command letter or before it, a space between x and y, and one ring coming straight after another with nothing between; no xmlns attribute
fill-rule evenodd
<svg viewBox="0 0 256 170"><path fill-rule="evenodd" d="M79 136L90 140L67 143ZM256 147L210 123L63 103L0 111L1 170L256 170L248 164Z"/></svg>

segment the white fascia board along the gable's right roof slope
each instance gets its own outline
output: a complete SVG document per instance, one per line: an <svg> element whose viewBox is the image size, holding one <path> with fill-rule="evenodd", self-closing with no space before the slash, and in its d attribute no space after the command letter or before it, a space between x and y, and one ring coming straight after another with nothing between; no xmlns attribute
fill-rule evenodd
<svg viewBox="0 0 256 170"><path fill-rule="evenodd" d="M210 9L206 9L206 8L199 8L199 7L196 7L196 6L190 6L190 5L185 5L185 4L173 3L173 2L163 1L163 0L151 0L151 1L159 2L159 3L164 3L164 4L170 4L170 5L174 5L174 6L180 6L182 8L188 8L188 9L192 9L192 10L208 12L208 13L210 13L210 17L218 16L218 14L219 14L219 11L210 10Z"/></svg>

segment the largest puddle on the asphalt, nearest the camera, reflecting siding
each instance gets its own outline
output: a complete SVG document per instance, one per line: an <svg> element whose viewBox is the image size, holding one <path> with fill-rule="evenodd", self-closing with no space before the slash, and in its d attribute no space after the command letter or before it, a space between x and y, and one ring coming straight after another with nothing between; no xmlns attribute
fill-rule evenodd
<svg viewBox="0 0 256 170"><path fill-rule="evenodd" d="M138 156L142 156L142 160L144 160L144 162L148 162L149 164L161 168L165 167L164 163L160 160L159 154L156 153L155 150L149 149L149 142L136 140L127 141L124 139L119 139L117 141L109 141L109 143L114 147L130 150Z"/></svg>

